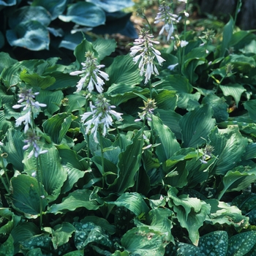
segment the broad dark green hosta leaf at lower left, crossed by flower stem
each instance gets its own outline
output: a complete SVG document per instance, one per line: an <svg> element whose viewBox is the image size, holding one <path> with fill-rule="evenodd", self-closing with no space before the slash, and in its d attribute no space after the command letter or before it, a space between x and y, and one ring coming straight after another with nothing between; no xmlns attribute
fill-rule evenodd
<svg viewBox="0 0 256 256"><path fill-rule="evenodd" d="M12 206L18 211L26 214L27 218L37 218L40 213L40 197L45 196L45 189L38 187L37 179L25 174L20 174L17 177L11 178L12 190L9 197ZM40 189L40 191L39 191ZM48 202L46 198L42 198L42 211Z"/></svg>

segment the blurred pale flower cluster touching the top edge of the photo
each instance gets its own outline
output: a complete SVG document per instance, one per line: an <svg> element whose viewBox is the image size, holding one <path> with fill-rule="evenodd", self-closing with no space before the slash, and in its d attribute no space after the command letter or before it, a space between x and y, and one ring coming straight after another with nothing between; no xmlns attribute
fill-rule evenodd
<svg viewBox="0 0 256 256"><path fill-rule="evenodd" d="M157 17L155 18L154 21L154 23L160 22L163 22L164 25L162 26L162 29L159 31L159 35L163 34L163 32L166 31L167 41L169 41L174 31L174 25L178 23L178 15L172 13L172 10L165 3L165 1L162 1L162 3L159 5L159 12L157 13Z"/></svg>

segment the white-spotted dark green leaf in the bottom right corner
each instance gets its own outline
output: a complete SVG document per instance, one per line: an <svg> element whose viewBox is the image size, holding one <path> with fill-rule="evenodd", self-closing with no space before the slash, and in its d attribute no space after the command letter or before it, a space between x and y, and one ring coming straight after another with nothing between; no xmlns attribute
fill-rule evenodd
<svg viewBox="0 0 256 256"><path fill-rule="evenodd" d="M232 236L228 241L227 256L243 256L256 244L256 232L249 231Z"/></svg>

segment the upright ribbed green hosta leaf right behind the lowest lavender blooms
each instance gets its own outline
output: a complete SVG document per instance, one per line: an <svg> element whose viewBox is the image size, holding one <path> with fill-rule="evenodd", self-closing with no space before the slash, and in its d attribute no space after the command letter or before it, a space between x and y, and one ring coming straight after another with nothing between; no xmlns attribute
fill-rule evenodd
<svg viewBox="0 0 256 256"><path fill-rule="evenodd" d="M42 150L47 150L45 154L39 155L39 171L42 175L42 184L48 192L48 200L55 200L60 192L64 181L67 180L67 170L61 166L59 152L53 144L44 144ZM28 153L27 153L28 154ZM35 157L23 160L26 173L34 173L37 170L37 159Z"/></svg>

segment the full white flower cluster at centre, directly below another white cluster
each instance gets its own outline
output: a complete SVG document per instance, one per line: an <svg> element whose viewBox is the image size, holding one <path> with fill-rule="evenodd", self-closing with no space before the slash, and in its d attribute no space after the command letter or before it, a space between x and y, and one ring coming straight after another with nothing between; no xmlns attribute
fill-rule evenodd
<svg viewBox="0 0 256 256"><path fill-rule="evenodd" d="M116 107L110 105L108 102L108 99L106 99L102 94L99 94L95 105L92 105L90 102L91 111L81 115L81 121L86 127L86 134L92 133L94 135L94 140L97 143L98 129L102 129L102 135L105 136L108 132L108 128L113 124L113 116L118 121L121 120L122 114L113 110L113 108ZM89 117L91 117L91 119L86 121Z"/></svg>

